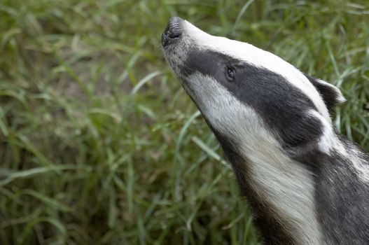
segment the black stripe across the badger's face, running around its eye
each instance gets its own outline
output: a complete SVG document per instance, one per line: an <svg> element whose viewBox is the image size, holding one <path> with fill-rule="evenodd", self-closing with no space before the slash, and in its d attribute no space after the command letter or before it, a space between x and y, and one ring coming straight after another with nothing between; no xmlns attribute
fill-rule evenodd
<svg viewBox="0 0 369 245"><path fill-rule="evenodd" d="M225 76L227 66L235 67L232 83ZM184 76L198 71L214 77L240 102L251 106L286 148L311 143L323 132L321 122L307 113L316 110L313 102L277 73L211 50L190 51L180 69Z"/></svg>

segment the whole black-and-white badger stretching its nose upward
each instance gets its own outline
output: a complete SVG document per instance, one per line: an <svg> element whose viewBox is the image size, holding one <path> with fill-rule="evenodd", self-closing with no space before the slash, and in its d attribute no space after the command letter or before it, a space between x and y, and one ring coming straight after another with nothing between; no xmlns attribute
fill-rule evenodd
<svg viewBox="0 0 369 245"><path fill-rule="evenodd" d="M161 42L264 244L369 244L369 155L333 126L337 87L178 17Z"/></svg>

